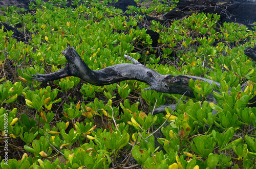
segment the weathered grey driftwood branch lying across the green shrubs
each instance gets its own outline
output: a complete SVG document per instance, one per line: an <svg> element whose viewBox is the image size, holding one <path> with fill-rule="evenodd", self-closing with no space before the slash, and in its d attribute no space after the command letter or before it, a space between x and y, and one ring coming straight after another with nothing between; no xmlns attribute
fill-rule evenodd
<svg viewBox="0 0 256 169"><path fill-rule="evenodd" d="M256 58L255 51L256 47L247 48L245 53L247 52L246 55L250 55L249 57ZM82 79L83 81L98 86L109 85L124 80L138 80L150 85L150 87L147 87L144 90L156 90L158 92L172 94L184 94L186 91L188 91L185 93L185 95L191 98L194 98L195 96L193 89L188 86L190 79L193 79L194 81L200 80L208 82L209 84L215 83L220 88L220 83L201 77L188 75L161 75L157 71L142 65L137 60L127 55L124 55L124 57L132 61L134 64L121 63L95 71L91 70L88 65L84 63L84 61L75 51L74 47L67 47L67 49L64 50L62 54L68 60L68 65L65 68L47 75L31 75L33 77L31 79L43 82L57 80L68 76L75 76ZM245 86L246 84L242 85L242 90L244 90ZM207 101L216 103L212 93L207 96ZM156 109L156 111L161 112L164 110L163 107L166 107L166 105L160 107L159 110Z"/></svg>

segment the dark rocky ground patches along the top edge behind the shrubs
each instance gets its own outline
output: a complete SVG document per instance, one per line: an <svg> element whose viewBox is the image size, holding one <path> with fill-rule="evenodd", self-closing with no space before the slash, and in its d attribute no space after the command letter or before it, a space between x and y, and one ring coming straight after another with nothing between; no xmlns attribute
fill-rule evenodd
<svg viewBox="0 0 256 169"><path fill-rule="evenodd" d="M48 0L44 0L48 1ZM0 0L0 7L5 7L9 5L14 5L19 8L29 9L29 3L33 0ZM66 6L71 6L72 1L67 0ZM120 8L123 11L127 9L127 6L136 6L134 0L119 0L118 3L110 4L116 8ZM160 22L165 22L167 20L172 21L172 19L179 19L182 17L187 17L194 12L204 12L204 13L217 13L221 15L219 25L223 22L237 22L241 25L246 25L248 29L251 29L253 22L256 22L256 0L181 0L177 4L175 10L168 12L167 14L154 18ZM0 14L4 14L3 12ZM147 18L153 19L153 18ZM22 33L16 31L15 28L8 26L6 23L2 23L6 30L12 30L14 36L18 40L24 40ZM6 31L4 30L4 31Z"/></svg>

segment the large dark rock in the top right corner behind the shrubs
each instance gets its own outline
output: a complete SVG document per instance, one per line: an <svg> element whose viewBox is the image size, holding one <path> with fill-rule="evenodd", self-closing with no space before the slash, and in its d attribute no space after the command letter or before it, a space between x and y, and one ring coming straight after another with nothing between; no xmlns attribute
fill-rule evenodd
<svg viewBox="0 0 256 169"><path fill-rule="evenodd" d="M180 1L176 9L185 12L187 15L194 12L218 14L221 16L219 25L222 25L225 21L237 22L246 25L250 29L252 23L256 21L256 3L250 3L249 1L237 3L237 1L232 0L185 0Z"/></svg>

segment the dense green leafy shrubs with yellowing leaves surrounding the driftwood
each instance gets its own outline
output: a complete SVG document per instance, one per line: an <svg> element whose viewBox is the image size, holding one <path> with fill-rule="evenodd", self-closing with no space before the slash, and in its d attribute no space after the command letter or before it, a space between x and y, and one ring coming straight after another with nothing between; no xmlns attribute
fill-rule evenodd
<svg viewBox="0 0 256 169"><path fill-rule="evenodd" d="M137 0L141 7L129 7L126 14L133 15L128 17L108 2L76 0L71 8L63 7L65 1L37 0L23 14L16 7L3 9L1 22L24 32L26 39L17 41L12 31L0 29L0 131L6 131L9 149L8 166L3 152L0 168L253 168L256 108L249 100L256 95L256 71L244 49L255 44L256 27L218 26L218 15L204 13L147 21L143 13L160 18L177 2ZM158 47L152 47L146 29L160 34ZM128 63L126 54L163 75L220 82L220 93L213 92L218 105L207 102L216 86L201 81L189 82L195 90L191 99L144 91L148 86L135 80L107 86L76 77L30 80L30 75L65 67L61 51L67 46L74 46L93 70ZM174 112L147 114L154 105L179 100ZM168 117L163 137L157 138L160 150L152 132ZM61 154L65 160L59 160Z"/></svg>

